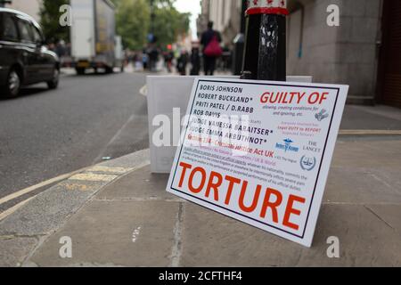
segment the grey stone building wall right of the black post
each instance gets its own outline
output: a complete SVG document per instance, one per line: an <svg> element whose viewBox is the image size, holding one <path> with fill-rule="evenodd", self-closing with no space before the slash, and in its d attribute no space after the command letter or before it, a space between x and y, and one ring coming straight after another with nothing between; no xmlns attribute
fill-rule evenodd
<svg viewBox="0 0 401 285"><path fill-rule="evenodd" d="M340 26L329 26L331 4ZM348 102L375 102L382 0L290 0L287 72L349 85Z"/></svg>

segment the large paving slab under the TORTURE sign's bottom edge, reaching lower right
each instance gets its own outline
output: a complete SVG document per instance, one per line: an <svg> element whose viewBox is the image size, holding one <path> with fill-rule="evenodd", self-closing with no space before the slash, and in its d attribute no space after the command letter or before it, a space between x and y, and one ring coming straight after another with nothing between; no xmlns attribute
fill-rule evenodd
<svg viewBox="0 0 401 285"><path fill-rule="evenodd" d="M324 205L312 248L190 203L183 216L183 266L401 265L399 234L364 206ZM340 258L327 256L331 236L340 239Z"/></svg>

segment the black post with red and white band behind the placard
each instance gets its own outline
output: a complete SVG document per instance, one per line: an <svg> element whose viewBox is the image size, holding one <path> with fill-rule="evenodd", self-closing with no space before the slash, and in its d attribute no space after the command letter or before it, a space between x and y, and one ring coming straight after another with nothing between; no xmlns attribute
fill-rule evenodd
<svg viewBox="0 0 401 285"><path fill-rule="evenodd" d="M286 0L250 0L241 78L286 81Z"/></svg>

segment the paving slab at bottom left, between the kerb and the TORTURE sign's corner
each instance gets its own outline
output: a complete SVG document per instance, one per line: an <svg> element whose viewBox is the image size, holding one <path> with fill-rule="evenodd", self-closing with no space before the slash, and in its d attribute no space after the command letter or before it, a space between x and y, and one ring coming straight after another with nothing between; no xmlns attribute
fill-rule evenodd
<svg viewBox="0 0 401 285"><path fill-rule="evenodd" d="M169 266L178 202L94 200L46 240L30 258L39 266ZM72 258L59 256L59 240L72 240Z"/></svg>

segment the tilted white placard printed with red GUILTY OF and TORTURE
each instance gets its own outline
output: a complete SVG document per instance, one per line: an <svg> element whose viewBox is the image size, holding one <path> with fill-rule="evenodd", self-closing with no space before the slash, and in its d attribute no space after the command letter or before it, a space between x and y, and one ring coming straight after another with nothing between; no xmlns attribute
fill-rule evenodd
<svg viewBox="0 0 401 285"><path fill-rule="evenodd" d="M347 94L197 78L167 191L310 247Z"/></svg>

